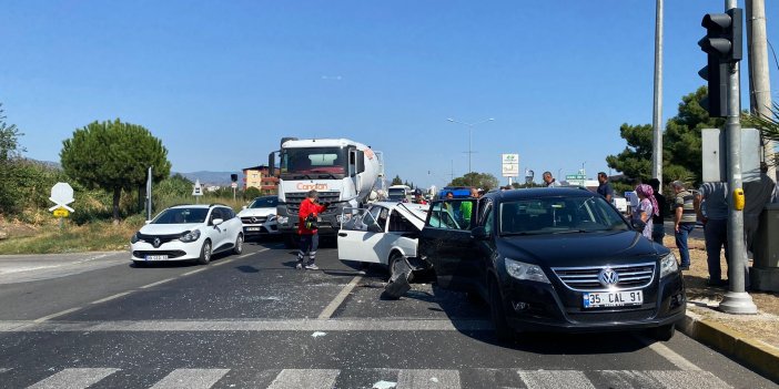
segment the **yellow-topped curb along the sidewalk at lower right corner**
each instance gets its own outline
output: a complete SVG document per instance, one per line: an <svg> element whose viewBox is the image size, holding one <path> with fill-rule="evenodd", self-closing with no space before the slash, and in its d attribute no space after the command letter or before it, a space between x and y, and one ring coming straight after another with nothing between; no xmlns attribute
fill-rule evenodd
<svg viewBox="0 0 779 389"><path fill-rule="evenodd" d="M779 369L777 369L777 366L779 366L779 349L718 323L701 319L689 310L685 318L677 324L677 329L690 338L738 360L763 377L779 382Z"/></svg>

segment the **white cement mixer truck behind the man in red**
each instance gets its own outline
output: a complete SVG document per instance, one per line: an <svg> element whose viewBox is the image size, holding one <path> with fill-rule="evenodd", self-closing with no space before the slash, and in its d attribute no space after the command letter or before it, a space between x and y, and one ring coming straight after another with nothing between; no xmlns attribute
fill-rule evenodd
<svg viewBox="0 0 779 389"><path fill-rule="evenodd" d="M320 202L331 203L320 215L320 236L335 237L344 207L361 207L375 199L377 181L384 180L381 160L381 153L346 139L282 139L281 150L269 155L267 166L271 175L279 176L276 213L284 244L296 247L297 212L311 190L318 192Z"/></svg>

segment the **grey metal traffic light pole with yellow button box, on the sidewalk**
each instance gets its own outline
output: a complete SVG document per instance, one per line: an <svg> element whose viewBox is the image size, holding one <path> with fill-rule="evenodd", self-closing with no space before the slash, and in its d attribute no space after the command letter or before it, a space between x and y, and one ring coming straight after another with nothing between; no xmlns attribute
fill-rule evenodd
<svg viewBox="0 0 779 389"><path fill-rule="evenodd" d="M726 11L736 8L737 0L726 0ZM728 280L729 291L725 294L719 309L728 314L757 314L752 297L746 291L748 277L747 247L743 239L743 211L736 206L737 193L742 194L741 183L741 112L739 88L739 62L728 66L728 115L725 124L728 162L728 188L730 204L728 208Z"/></svg>

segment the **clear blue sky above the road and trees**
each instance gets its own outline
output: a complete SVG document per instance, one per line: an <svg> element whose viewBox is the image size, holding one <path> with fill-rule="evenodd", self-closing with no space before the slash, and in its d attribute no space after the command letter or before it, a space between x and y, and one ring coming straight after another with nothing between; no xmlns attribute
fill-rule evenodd
<svg viewBox="0 0 779 389"><path fill-rule="evenodd" d="M700 20L724 4L666 1L664 122L705 83ZM446 119L494 117L474 126L474 171L506 183L500 153L518 153L537 180L594 176L625 147L621 123L651 123L654 30L651 0L4 1L0 102L45 161L120 117L176 172L265 164L282 136L348 137L382 151L387 176L442 186L468 168L468 129Z"/></svg>

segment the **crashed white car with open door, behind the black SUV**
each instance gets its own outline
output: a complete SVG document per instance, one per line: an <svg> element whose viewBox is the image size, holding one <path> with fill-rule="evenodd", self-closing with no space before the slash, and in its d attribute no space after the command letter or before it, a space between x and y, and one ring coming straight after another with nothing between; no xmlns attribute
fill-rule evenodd
<svg viewBox="0 0 779 389"><path fill-rule="evenodd" d="M428 208L428 205L389 202L373 203L367 208L344 208L338 259L386 265L391 278L407 268L421 269L409 259L417 256L417 240Z"/></svg>

